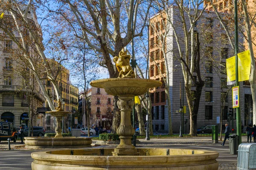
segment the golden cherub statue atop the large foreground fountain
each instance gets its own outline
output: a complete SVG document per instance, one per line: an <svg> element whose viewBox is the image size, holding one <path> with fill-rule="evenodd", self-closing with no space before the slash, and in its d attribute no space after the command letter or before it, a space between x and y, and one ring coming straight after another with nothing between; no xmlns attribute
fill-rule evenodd
<svg viewBox="0 0 256 170"><path fill-rule="evenodd" d="M119 57L114 57L113 61L116 63L116 68L119 71L118 78L133 78L135 77L134 71L130 65L131 55L127 54L127 51L123 48L119 52Z"/></svg>

